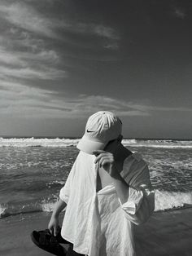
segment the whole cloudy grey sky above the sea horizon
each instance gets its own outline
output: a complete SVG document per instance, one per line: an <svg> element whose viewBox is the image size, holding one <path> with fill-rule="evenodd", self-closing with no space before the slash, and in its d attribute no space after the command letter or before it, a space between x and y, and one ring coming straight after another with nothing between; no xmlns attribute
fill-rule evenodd
<svg viewBox="0 0 192 256"><path fill-rule="evenodd" d="M190 0L1 0L0 136L108 110L124 138L192 139L191 27Z"/></svg>

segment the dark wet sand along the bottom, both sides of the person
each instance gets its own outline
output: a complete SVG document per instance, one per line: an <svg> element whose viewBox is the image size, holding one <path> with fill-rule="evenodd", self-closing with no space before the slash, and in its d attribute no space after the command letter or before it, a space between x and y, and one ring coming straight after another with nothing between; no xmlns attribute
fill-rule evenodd
<svg viewBox="0 0 192 256"><path fill-rule="evenodd" d="M0 255L51 255L39 249L30 239L33 230L46 229L49 219L50 214L46 213L0 219ZM135 226L135 238L137 256L191 256L192 207L155 212L147 223Z"/></svg>

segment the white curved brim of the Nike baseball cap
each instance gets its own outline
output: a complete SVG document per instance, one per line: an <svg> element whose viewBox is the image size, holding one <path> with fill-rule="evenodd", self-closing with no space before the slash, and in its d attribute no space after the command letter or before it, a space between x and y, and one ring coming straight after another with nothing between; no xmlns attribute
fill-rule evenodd
<svg viewBox="0 0 192 256"><path fill-rule="evenodd" d="M76 148L80 149L83 152L86 152L88 154L93 155L95 150L103 150L105 146L107 145L106 143L103 142L98 142L94 140L90 140L83 135L79 143L76 145Z"/></svg>

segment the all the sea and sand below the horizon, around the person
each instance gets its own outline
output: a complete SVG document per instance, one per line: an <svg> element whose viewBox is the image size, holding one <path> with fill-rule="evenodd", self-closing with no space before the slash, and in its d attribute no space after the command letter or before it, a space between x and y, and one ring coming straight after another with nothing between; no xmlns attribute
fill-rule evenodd
<svg viewBox="0 0 192 256"><path fill-rule="evenodd" d="M30 234L47 228L78 154L77 142L1 139L1 256L51 255L34 245ZM137 256L192 255L192 141L124 139L123 143L142 154L155 191L154 214L134 226Z"/></svg>

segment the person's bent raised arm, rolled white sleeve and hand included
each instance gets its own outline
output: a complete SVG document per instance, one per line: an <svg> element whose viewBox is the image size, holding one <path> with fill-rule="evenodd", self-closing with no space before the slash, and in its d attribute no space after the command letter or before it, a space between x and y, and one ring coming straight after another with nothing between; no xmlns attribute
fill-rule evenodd
<svg viewBox="0 0 192 256"><path fill-rule="evenodd" d="M111 175L116 186L120 206L126 218L136 225L145 223L155 208L155 192L152 190L149 169L142 159L135 159L131 182L123 179L117 171L116 162L111 152L98 150L95 163ZM130 170L127 170L128 172Z"/></svg>

